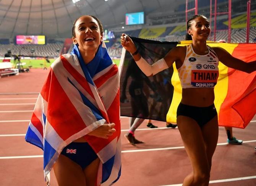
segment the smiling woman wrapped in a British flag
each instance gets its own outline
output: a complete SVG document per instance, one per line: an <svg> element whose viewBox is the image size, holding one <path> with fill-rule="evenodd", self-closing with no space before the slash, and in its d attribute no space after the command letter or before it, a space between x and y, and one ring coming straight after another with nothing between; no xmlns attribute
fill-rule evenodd
<svg viewBox="0 0 256 186"><path fill-rule="evenodd" d="M99 19L79 17L72 35L71 54L51 65L26 141L44 150L47 181L53 167L60 186L110 185L121 170L118 68Z"/></svg>

